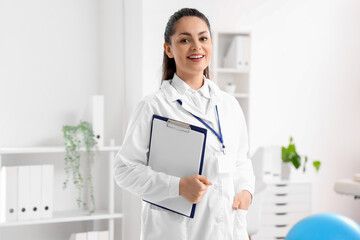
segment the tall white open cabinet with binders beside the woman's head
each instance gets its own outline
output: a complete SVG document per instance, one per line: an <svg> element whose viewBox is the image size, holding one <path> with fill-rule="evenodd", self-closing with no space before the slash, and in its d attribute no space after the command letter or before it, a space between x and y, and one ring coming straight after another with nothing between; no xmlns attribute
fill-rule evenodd
<svg viewBox="0 0 360 240"><path fill-rule="evenodd" d="M249 125L250 32L214 32L213 79L238 100ZM235 92L231 92L235 86ZM229 90L228 90L229 89Z"/></svg>

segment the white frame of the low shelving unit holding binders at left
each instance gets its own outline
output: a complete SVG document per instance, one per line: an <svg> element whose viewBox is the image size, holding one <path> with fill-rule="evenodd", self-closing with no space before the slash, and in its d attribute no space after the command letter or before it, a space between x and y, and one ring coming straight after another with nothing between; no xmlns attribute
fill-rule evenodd
<svg viewBox="0 0 360 240"><path fill-rule="evenodd" d="M71 210L71 211L57 211L57 206L54 206L53 217L49 219L36 219L27 221L9 221L0 222L0 231L8 227L21 227L26 225L39 225L39 224L51 224L51 223L71 223L79 221L96 221L96 220L107 220L109 240L114 240L114 220L122 219L124 216L122 213L115 212L115 182L113 178L113 161L115 154L119 151L120 146L104 146L99 147L99 153L108 154L108 174L107 184L109 187L108 191L108 203L107 209L96 210L95 213L89 215L88 210ZM81 149L85 152L85 149ZM33 155L33 154L60 154L65 153L64 147L23 147L23 148L0 148L0 169L7 158L21 154ZM99 159L100 160L100 159ZM101 159L103 160L103 159ZM55 161L55 160L54 160ZM27 164L27 163L26 163ZM28 165L32 162L29 161ZM6 166L6 164L4 164ZM57 190L55 188L55 190Z"/></svg>

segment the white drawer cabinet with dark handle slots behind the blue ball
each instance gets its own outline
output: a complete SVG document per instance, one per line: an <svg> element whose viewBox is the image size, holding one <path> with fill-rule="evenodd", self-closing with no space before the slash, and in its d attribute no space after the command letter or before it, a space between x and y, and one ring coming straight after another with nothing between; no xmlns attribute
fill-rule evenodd
<svg viewBox="0 0 360 240"><path fill-rule="evenodd" d="M289 230L310 214L310 182L268 182L262 206L260 231L252 239L285 239Z"/></svg>

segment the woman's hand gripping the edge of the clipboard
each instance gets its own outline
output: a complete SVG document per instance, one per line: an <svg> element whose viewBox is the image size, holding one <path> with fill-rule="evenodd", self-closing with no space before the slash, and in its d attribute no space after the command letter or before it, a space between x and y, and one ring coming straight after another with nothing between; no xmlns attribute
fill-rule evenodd
<svg viewBox="0 0 360 240"><path fill-rule="evenodd" d="M212 185L210 180L201 175L191 175L180 179L179 193L191 203L198 203L207 191L207 186Z"/></svg>

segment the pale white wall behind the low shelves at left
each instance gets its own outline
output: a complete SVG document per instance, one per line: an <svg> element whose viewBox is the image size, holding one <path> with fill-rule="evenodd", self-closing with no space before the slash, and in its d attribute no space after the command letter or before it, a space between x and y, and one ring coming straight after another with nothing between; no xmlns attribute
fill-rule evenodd
<svg viewBox="0 0 360 240"><path fill-rule="evenodd" d="M111 138L120 144L125 116L123 31L122 1L0 1L0 147L61 146L62 126L79 123L93 94L105 95L106 144ZM21 155L3 163L54 164L55 209L75 207L76 191L62 191L61 154ZM105 165L97 164L99 209L106 207L102 196L108 182ZM117 198L118 210L121 204ZM15 227L1 229L0 238L67 239L71 232L90 228L84 222Z"/></svg>

